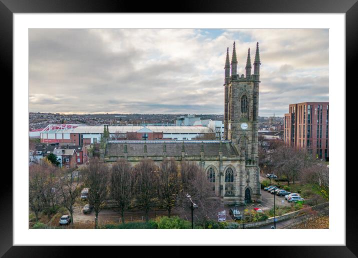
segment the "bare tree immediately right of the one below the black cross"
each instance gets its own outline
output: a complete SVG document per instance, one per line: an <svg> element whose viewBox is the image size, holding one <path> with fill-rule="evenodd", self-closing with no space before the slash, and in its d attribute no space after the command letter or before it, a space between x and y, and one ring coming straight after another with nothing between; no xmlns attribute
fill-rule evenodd
<svg viewBox="0 0 358 258"><path fill-rule="evenodd" d="M175 204L176 197L180 192L180 177L178 165L173 158L164 159L156 171L160 202L168 211L170 217L171 209Z"/></svg>

